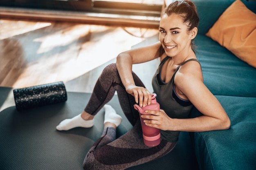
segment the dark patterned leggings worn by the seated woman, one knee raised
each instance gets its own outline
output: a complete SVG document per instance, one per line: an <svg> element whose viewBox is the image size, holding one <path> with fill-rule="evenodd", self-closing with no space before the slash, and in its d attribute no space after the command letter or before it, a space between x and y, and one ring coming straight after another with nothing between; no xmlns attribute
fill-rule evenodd
<svg viewBox="0 0 256 170"><path fill-rule="evenodd" d="M135 84L144 87L139 77L135 73L132 75ZM139 114L133 107L135 99L126 92L115 64L108 65L101 73L85 111L96 115L112 99L115 91L120 106L133 128L118 139L115 128L105 128L102 136L85 156L84 170L124 170L162 157L175 147L175 143L162 139L158 146L144 145Z"/></svg>

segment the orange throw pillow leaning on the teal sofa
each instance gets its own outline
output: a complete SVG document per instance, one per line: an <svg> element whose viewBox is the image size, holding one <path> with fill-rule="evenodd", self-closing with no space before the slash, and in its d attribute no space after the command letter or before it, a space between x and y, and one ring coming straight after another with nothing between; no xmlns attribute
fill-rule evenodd
<svg viewBox="0 0 256 170"><path fill-rule="evenodd" d="M240 0L220 15L206 35L256 68L256 14Z"/></svg>

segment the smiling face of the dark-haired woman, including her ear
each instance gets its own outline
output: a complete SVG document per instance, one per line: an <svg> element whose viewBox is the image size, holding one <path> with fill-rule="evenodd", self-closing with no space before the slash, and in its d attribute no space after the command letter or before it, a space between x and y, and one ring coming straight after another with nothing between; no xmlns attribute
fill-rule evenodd
<svg viewBox="0 0 256 170"><path fill-rule="evenodd" d="M191 40L197 33L197 29L195 29L188 31L188 26L180 15L162 15L159 25L159 40L166 55L169 57L189 55L192 51Z"/></svg>

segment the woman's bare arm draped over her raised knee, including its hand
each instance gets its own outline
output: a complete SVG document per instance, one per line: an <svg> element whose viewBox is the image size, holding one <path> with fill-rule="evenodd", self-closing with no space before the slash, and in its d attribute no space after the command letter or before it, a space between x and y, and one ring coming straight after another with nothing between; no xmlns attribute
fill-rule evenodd
<svg viewBox="0 0 256 170"><path fill-rule="evenodd" d="M117 70L127 93L135 97L135 102L140 106L146 106L151 102L151 93L143 87L138 87L132 77L132 64L139 64L154 60L159 57L158 49L161 46L157 42L151 46L125 51L117 56Z"/></svg>

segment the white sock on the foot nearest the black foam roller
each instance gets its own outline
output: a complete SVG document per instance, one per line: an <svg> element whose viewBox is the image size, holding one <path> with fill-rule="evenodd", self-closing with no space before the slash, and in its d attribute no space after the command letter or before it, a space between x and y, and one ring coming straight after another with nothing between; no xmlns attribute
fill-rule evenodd
<svg viewBox="0 0 256 170"><path fill-rule="evenodd" d="M57 130L70 130L76 127L90 128L94 125L94 119L92 120L84 120L81 117L81 114L73 117L72 119L65 119L61 121L61 123L56 126Z"/></svg>

